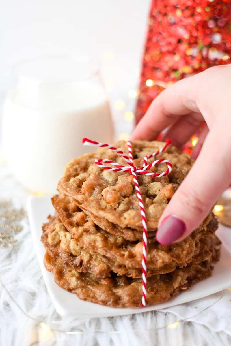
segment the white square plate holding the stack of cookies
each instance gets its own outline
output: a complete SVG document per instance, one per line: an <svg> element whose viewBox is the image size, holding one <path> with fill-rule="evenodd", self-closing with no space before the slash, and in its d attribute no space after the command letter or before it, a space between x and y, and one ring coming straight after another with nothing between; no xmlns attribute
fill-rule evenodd
<svg viewBox="0 0 231 346"><path fill-rule="evenodd" d="M214 265L213 275L194 284L191 288L181 292L177 297L170 299L168 302L145 308L129 309L110 308L80 300L75 294L60 288L54 282L52 273L47 272L43 265L45 249L40 241L42 235L41 227L42 224L46 222L48 214L52 215L54 213L50 198L30 197L28 199L28 213L34 246L47 291L50 294L55 309L61 316L107 317L163 309L206 297L207 295L219 292L231 286L231 230L230 228L220 225L219 229L216 231L216 235L223 242L221 260Z"/></svg>

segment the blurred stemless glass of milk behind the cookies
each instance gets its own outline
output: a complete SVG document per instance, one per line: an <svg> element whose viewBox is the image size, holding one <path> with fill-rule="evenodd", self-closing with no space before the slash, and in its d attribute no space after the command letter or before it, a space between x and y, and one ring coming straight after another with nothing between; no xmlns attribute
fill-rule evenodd
<svg viewBox="0 0 231 346"><path fill-rule="evenodd" d="M113 122L100 73L86 58L44 58L16 68L3 108L3 147L18 181L52 194L65 165L92 147L113 143Z"/></svg>

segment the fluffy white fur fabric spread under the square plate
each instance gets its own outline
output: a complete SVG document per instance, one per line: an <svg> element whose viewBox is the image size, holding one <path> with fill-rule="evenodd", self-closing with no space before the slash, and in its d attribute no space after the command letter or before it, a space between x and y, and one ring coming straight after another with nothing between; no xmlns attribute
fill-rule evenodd
<svg viewBox="0 0 231 346"><path fill-rule="evenodd" d="M11 176L8 167L0 165L0 199L10 198L15 207L26 207L26 192ZM219 346L231 344L231 290L214 306L175 329L161 328L180 318L187 318L212 304L221 293L162 311L115 318L62 319L47 294L33 248L28 221L17 236L19 250L0 249L0 276L10 294L33 320L24 315L0 284L0 345L2 346L63 346L63 345L170 345ZM168 312L167 312L168 311ZM45 331L39 321L53 329L80 330L65 334ZM218 333L219 332L219 333Z"/></svg>

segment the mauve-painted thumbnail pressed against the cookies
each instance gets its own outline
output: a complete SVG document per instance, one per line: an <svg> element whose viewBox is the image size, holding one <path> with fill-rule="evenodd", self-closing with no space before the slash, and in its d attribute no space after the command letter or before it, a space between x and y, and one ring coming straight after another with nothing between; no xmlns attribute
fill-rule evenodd
<svg viewBox="0 0 231 346"><path fill-rule="evenodd" d="M162 245L169 245L183 236L186 226L176 215L170 215L160 224L156 239Z"/></svg>

